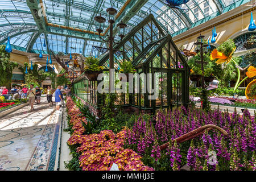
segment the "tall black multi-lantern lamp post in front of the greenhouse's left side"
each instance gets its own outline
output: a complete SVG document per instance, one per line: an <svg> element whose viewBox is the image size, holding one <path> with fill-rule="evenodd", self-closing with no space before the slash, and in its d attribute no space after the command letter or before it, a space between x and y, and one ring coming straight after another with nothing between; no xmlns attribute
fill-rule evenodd
<svg viewBox="0 0 256 182"><path fill-rule="evenodd" d="M111 75L110 69L114 68L114 51L117 51L117 50L113 50L113 43L117 44L116 42L114 42L115 37L113 36L113 24L115 23L114 16L115 14L117 14L117 10L115 10L113 7L110 7L106 10L106 12L108 14L108 22L109 22L109 35L107 35L108 39L104 39L101 37L101 32L103 32L102 28L104 28L104 23L106 22L106 19L103 18L101 15L96 16L94 19L97 22L96 31L98 32L100 39L109 44L109 75ZM126 34L127 25L121 22L117 24L117 27L118 27L118 36L122 39ZM111 77L109 78L111 80Z"/></svg>

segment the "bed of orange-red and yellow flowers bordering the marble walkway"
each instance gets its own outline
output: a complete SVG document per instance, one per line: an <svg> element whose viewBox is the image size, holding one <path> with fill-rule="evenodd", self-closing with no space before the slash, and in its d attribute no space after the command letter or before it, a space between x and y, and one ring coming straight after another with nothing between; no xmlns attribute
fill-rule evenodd
<svg viewBox="0 0 256 182"><path fill-rule="evenodd" d="M119 170L154 170L144 166L141 156L136 152L123 148L126 137L125 128L118 134L114 134L111 130L103 130L100 134L85 135L82 122L86 123L86 118L71 97L67 97L67 108L69 125L73 130L68 145L76 148L82 170L109 170L113 163L118 165Z"/></svg>

